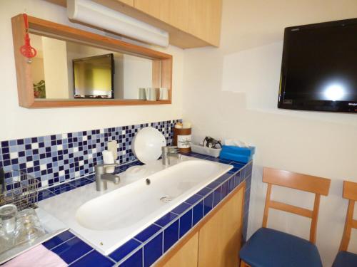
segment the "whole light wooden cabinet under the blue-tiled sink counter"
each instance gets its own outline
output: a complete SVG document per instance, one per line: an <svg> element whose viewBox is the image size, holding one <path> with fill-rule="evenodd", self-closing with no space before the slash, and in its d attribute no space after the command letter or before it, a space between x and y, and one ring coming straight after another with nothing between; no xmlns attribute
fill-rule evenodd
<svg viewBox="0 0 357 267"><path fill-rule="evenodd" d="M203 218L156 266L236 267L241 248L245 183Z"/></svg>

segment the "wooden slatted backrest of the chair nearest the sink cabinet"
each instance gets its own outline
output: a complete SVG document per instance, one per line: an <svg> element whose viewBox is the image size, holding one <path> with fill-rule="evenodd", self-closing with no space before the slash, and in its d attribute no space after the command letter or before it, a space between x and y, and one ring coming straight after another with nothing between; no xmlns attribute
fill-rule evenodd
<svg viewBox="0 0 357 267"><path fill-rule="evenodd" d="M266 227L268 223L268 211L271 209L278 209L281 211L291 212L311 218L310 227L310 241L315 244L316 242L316 227L318 219L318 208L320 206L320 197L328 195L330 189L331 179L315 177L306 174L298 174L295 172L288 172L281 169L263 169L263 182L268 184L266 191L266 204L263 214L263 227ZM285 204L279 201L271 200L271 187L272 185L278 185L281 187L288 187L298 189L305 192L311 192L315 194L315 201L313 204L313 210L304 209L298 206Z"/></svg>

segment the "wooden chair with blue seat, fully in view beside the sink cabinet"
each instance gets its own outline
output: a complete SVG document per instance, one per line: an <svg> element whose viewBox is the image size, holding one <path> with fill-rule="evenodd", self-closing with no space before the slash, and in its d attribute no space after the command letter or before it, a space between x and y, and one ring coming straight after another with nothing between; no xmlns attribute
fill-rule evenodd
<svg viewBox="0 0 357 267"><path fill-rule="evenodd" d="M321 267L321 258L315 245L318 208L320 206L321 195L328 195L331 180L279 169L264 168L263 182L268 184L263 214L263 227L258 229L243 248L241 248L241 267ZM313 210L271 200L271 187L273 185L315 194ZM311 218L310 241L266 228L269 208Z"/></svg>

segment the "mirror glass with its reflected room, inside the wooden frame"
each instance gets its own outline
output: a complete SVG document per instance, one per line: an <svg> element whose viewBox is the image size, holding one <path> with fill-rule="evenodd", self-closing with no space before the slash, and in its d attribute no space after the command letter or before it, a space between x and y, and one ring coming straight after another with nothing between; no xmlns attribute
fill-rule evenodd
<svg viewBox="0 0 357 267"><path fill-rule="evenodd" d="M153 87L151 59L32 33L30 38L38 52L31 63L36 100L145 99Z"/></svg>

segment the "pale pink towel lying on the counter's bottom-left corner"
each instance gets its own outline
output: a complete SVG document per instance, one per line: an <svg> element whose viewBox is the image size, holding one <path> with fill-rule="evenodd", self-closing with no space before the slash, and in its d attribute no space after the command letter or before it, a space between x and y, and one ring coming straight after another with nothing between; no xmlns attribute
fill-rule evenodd
<svg viewBox="0 0 357 267"><path fill-rule="evenodd" d="M42 245L35 246L29 251L4 263L6 267L65 267L68 266L56 253L49 251Z"/></svg>

